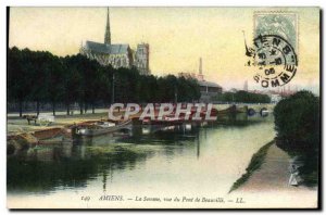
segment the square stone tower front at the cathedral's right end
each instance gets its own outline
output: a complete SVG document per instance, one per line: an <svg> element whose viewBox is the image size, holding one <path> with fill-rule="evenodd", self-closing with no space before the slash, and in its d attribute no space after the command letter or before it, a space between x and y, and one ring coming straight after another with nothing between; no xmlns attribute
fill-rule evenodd
<svg viewBox="0 0 326 215"><path fill-rule="evenodd" d="M140 43L137 46L135 53L135 66L138 68L139 73L142 75L149 75L149 45Z"/></svg>

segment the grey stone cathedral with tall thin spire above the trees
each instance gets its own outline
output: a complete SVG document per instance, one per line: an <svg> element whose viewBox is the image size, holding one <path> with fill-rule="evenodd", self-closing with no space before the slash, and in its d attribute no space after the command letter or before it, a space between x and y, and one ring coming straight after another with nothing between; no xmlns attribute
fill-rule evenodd
<svg viewBox="0 0 326 215"><path fill-rule="evenodd" d="M82 43L80 54L97 60L101 65L112 65L114 68L136 66L140 74L149 75L149 45L140 43L136 52L127 43L111 43L110 13L108 9L104 43L86 41Z"/></svg>

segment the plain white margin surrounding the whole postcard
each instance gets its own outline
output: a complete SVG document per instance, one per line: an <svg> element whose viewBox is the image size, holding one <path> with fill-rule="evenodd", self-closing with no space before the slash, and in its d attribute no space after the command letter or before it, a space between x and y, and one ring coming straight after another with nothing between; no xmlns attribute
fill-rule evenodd
<svg viewBox="0 0 326 215"><path fill-rule="evenodd" d="M7 151L5 151L5 142L7 142L7 136L5 136L5 126L7 126L7 117L5 117L5 109L7 109L7 98L5 98L5 62L7 62L7 7L11 5L29 5L29 7L37 7L37 5L65 5L65 7L74 7L74 5L92 5L92 7L99 7L99 5L122 5L122 7L130 7L130 5L139 5L139 7L321 7L322 9L325 9L326 1L325 0L309 0L309 1L303 1L303 0L297 0L297 1L290 1L290 0L273 0L273 1L240 1L240 0L222 0L222 1L210 1L210 0L155 0L155 1L150 1L150 0L138 0L138 1L131 1L131 0L71 0L67 2L66 0L52 0L52 1L43 1L43 0L29 0L27 1L20 1L20 0L2 0L0 1L1 5L1 22L0 22L0 59L1 59L1 68L0 68L0 74L1 74L1 84L0 84L0 97L1 101L3 102L2 105L0 106L0 121L1 121L1 132L0 132L0 152L1 152L1 157L2 161L1 163L1 172L2 174L0 175L0 211L1 214L9 214L12 212L9 212L7 210L7 184L5 184L5 161L7 161ZM325 12L325 11L324 11ZM324 13L325 16L325 13ZM324 20L324 18L323 18ZM323 28L325 28L325 22L323 21ZM325 34L323 30L323 35L325 38ZM325 48L325 41L324 46ZM323 49L324 50L324 49ZM323 54L323 59L321 59L321 62L325 62L325 54ZM323 83L325 83L325 75L323 77ZM324 88L323 88L324 89ZM324 90L322 92L323 101L325 101L325 93ZM325 111L325 108L324 110ZM325 116L325 113L324 113ZM325 117L323 118L325 119ZM324 123L324 121L323 121ZM326 130L325 126L323 128L323 134ZM323 155L325 156L325 146L323 147ZM325 160L325 157L324 157ZM323 172L325 172L325 164L323 163ZM325 174L324 174L325 175ZM323 178L323 185L325 185L325 178ZM322 191L323 193L323 191ZM323 198L323 206L325 207L325 202ZM23 200L22 200L23 201ZM47 212L41 212L40 214L46 214ZM51 212L53 213L53 212ZM54 213L60 213L60 214L70 214L70 212L54 212ZM75 212L75 213L82 213L82 212ZM95 213L95 212L92 212ZM105 212L108 213L108 212ZM121 213L128 213L128 212L109 212L110 214L121 214ZM141 212L142 213L142 212ZM202 212L199 212L202 213ZM225 213L222 211L218 211L217 213ZM236 212L231 212L236 213ZM266 213L266 212L265 212ZM279 214L286 214L287 212L281 212ZM313 213L313 212L308 212L308 213ZM179 214L176 212L173 212L172 214Z"/></svg>

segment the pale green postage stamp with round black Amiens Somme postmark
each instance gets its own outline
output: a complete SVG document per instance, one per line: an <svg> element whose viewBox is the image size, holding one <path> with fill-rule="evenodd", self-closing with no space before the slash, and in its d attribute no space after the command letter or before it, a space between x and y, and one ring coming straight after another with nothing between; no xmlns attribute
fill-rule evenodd
<svg viewBox="0 0 326 215"><path fill-rule="evenodd" d="M253 76L263 88L288 84L298 66L298 15L285 12L255 12L253 15L253 48L248 65L258 67Z"/></svg>

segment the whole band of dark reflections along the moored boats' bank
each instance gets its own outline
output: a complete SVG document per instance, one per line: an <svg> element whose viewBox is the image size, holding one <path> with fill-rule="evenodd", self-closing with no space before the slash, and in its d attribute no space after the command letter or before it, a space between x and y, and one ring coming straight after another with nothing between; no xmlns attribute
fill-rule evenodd
<svg viewBox="0 0 326 215"><path fill-rule="evenodd" d="M134 126L131 131L80 138L73 143L36 146L8 157L8 191L51 193L86 188L92 180L99 180L105 192L120 169L133 172L137 166L143 166L147 160L161 156L167 157L166 161L185 159L190 162L188 168L191 172L191 162L210 151L212 134L225 127L241 129L266 121L271 119L237 114L204 126ZM161 167L160 163L155 165L151 168Z"/></svg>

